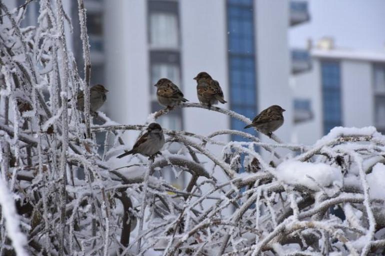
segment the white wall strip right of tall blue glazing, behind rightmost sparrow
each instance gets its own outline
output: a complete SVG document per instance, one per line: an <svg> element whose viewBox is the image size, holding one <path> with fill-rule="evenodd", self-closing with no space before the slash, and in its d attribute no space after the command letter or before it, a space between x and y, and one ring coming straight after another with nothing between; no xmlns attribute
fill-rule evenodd
<svg viewBox="0 0 385 256"><path fill-rule="evenodd" d="M288 1L255 0L254 6L258 110L274 104L286 110L283 113L286 121L275 133L285 142L289 142L292 129L292 97L288 86ZM260 137L268 140L266 136Z"/></svg>

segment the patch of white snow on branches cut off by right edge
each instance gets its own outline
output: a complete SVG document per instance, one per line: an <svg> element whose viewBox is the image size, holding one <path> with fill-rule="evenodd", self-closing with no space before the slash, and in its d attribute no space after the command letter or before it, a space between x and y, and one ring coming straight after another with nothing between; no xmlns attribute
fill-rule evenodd
<svg viewBox="0 0 385 256"><path fill-rule="evenodd" d="M370 188L370 198L385 200L385 165L374 165L366 180Z"/></svg>

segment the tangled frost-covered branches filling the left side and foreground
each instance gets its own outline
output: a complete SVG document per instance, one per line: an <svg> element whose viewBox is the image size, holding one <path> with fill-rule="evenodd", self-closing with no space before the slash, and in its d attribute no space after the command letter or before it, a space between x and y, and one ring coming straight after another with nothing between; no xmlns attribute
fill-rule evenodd
<svg viewBox="0 0 385 256"><path fill-rule="evenodd" d="M0 2L0 255L385 254L385 137L374 128L334 128L311 147L235 130L165 130L154 162L118 162L122 134L145 125L114 124L100 112L105 124L90 125L78 3L84 78L65 44L61 0L41 0L38 25L29 27L19 25L27 5L10 11ZM78 90L84 112L76 110Z"/></svg>

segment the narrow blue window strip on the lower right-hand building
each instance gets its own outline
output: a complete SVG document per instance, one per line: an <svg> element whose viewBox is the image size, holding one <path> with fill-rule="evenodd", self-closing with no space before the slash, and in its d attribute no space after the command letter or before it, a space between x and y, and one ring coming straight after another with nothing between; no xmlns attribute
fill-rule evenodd
<svg viewBox="0 0 385 256"><path fill-rule="evenodd" d="M323 134L342 125L340 68L337 61L321 61Z"/></svg>

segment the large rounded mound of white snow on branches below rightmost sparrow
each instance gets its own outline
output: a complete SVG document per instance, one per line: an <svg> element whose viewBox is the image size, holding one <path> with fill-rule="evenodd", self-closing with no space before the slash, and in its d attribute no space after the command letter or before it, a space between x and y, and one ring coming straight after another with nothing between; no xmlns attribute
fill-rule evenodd
<svg viewBox="0 0 385 256"><path fill-rule="evenodd" d="M342 184L341 171L323 163L289 160L277 166L276 177L284 183L302 185L315 191L320 190L318 185L328 187L335 183Z"/></svg>

